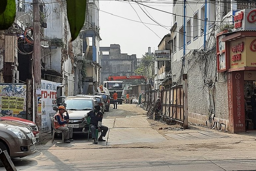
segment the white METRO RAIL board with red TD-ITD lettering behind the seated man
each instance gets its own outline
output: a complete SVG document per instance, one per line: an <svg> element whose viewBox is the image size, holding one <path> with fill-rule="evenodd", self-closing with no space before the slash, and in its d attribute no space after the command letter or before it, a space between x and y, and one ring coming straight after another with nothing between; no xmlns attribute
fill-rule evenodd
<svg viewBox="0 0 256 171"><path fill-rule="evenodd" d="M41 96L41 97L40 97ZM41 80L41 95L38 97L38 115L42 115L42 132L51 131L51 117L56 111L57 83ZM41 110L40 110L41 109Z"/></svg>

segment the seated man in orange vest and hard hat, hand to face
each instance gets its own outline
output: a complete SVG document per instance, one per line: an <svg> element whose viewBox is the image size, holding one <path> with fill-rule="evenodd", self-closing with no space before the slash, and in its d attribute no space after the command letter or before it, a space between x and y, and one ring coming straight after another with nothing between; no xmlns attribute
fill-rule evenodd
<svg viewBox="0 0 256 171"><path fill-rule="evenodd" d="M54 115L54 127L57 130L64 132L64 142L70 143L70 141L73 141L72 135L73 135L73 128L71 126L65 126L65 124L68 124L69 121L69 115L68 112L65 109L65 106L59 106L58 108L59 112L57 112ZM66 112L66 116L64 116L64 113ZM64 121L65 119L65 121Z"/></svg>

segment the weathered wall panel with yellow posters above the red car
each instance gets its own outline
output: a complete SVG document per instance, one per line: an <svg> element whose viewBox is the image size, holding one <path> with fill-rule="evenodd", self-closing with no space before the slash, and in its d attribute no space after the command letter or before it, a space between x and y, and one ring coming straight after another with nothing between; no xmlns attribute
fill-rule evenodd
<svg viewBox="0 0 256 171"><path fill-rule="evenodd" d="M26 119L27 86L21 84L0 85L0 111L9 116Z"/></svg>

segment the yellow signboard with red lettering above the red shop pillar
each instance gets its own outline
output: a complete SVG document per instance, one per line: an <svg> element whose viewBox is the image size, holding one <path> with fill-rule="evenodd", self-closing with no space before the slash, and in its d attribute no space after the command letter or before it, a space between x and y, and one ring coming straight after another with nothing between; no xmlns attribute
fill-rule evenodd
<svg viewBox="0 0 256 171"><path fill-rule="evenodd" d="M245 37L230 42L230 68L256 66L256 37Z"/></svg>

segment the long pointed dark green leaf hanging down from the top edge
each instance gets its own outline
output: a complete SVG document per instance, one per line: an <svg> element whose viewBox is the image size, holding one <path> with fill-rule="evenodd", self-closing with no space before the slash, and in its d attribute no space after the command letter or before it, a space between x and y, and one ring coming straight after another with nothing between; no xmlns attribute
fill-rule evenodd
<svg viewBox="0 0 256 171"><path fill-rule="evenodd" d="M85 22L86 0L66 0L67 19L71 32L71 41L75 40Z"/></svg>

